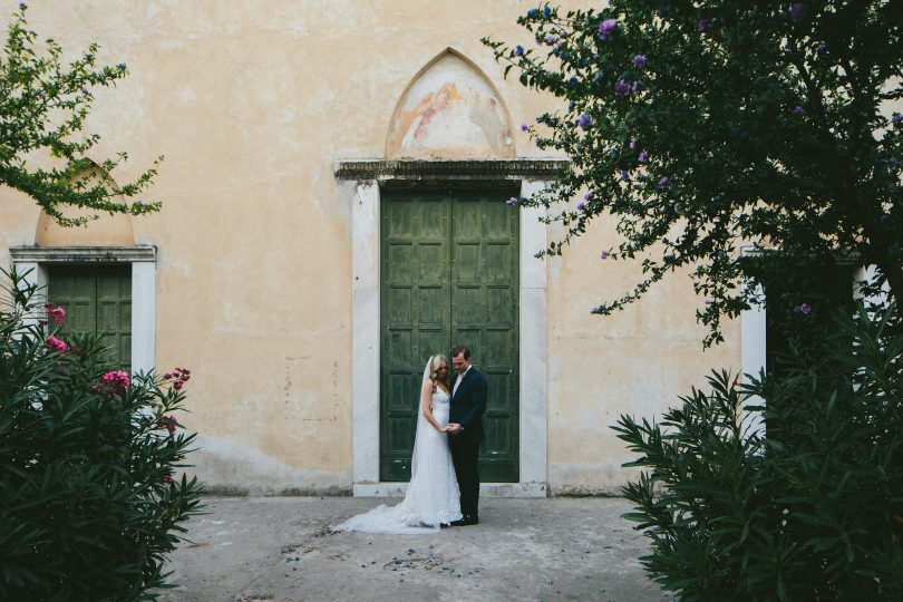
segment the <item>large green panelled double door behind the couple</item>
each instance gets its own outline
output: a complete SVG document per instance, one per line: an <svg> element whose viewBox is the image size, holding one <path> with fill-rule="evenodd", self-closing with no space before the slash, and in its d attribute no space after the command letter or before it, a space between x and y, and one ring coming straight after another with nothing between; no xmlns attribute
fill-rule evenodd
<svg viewBox="0 0 903 602"><path fill-rule="evenodd" d="M504 191L385 192L380 479L408 480L423 369L470 348L489 398L484 482L518 480L517 211ZM450 359L450 358L449 358Z"/></svg>

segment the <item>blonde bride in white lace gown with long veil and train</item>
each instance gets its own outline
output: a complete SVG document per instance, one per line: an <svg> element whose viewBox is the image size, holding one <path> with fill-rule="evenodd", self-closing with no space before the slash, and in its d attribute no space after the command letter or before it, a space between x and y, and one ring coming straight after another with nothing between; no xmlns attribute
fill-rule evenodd
<svg viewBox="0 0 903 602"><path fill-rule="evenodd" d="M410 482L397 506L378 506L352 516L337 531L365 533L433 533L439 525L462 518L460 491L448 448L448 360L433 356L424 368L420 411L410 459Z"/></svg>

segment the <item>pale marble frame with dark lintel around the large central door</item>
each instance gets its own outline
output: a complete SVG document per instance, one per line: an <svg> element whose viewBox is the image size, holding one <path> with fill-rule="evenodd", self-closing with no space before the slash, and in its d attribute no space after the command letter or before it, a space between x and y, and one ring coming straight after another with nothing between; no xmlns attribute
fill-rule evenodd
<svg viewBox="0 0 903 602"><path fill-rule="evenodd" d="M521 196L545 187L561 161L353 161L336 168L340 205L351 205L352 246L352 488L356 496L399 495L405 483L379 480L380 185L450 186L520 183ZM520 480L483 483L480 495L547 494L547 289L541 208L520 208Z"/></svg>

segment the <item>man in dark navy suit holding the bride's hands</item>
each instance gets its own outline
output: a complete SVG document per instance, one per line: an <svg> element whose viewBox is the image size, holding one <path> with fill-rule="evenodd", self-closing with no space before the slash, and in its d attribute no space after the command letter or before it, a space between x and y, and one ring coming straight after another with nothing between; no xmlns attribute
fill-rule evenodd
<svg viewBox="0 0 903 602"><path fill-rule="evenodd" d="M479 473L477 456L483 441L483 412L486 411L486 379L470 366L470 350L456 347L452 350L452 365L457 377L452 387L452 407L448 414L448 438L452 462L460 487L460 521L458 525L475 525L479 522Z"/></svg>

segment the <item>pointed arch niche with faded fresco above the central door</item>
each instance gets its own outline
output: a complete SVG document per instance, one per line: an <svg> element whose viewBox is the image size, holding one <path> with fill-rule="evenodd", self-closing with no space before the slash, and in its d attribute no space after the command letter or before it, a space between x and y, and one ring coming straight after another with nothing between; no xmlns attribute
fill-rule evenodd
<svg viewBox="0 0 903 602"><path fill-rule="evenodd" d="M511 118L488 78L448 48L405 89L389 124L386 158L511 158Z"/></svg>

